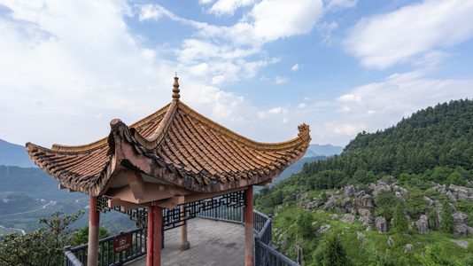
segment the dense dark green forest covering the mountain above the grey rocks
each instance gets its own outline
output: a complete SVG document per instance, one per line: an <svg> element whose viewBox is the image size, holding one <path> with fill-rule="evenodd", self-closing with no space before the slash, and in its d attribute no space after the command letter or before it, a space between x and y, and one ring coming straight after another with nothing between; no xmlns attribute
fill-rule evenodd
<svg viewBox="0 0 473 266"><path fill-rule="evenodd" d="M305 164L297 179L311 179L311 186L318 189L369 183L386 175L441 183L455 170L469 175L472 143L473 101L451 101L413 113L389 129L363 131L341 156ZM436 167L445 173L435 173Z"/></svg>

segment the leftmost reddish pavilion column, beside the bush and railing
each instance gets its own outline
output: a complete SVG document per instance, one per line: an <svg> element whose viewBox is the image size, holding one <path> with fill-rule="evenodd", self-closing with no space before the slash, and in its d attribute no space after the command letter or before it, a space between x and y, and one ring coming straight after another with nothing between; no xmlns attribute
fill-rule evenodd
<svg viewBox="0 0 473 266"><path fill-rule="evenodd" d="M89 251L87 265L97 266L98 263L98 227L100 225L100 213L97 211L97 197L90 197L89 209Z"/></svg>

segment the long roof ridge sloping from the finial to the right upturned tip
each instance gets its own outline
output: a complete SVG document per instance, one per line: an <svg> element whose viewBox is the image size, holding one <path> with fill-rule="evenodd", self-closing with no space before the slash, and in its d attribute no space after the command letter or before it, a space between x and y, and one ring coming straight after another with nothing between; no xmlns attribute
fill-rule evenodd
<svg viewBox="0 0 473 266"><path fill-rule="evenodd" d="M189 106L182 103L182 101L181 101L181 104L179 105L179 109L182 110L184 115L189 115L190 117L196 119L197 121L200 121L201 123L204 123L205 125L211 127L212 129L219 132L220 134L225 135L226 137L229 137L230 139L242 145L247 145L254 149L273 150L273 151L283 150L283 149L291 148L293 146L300 145L301 143L306 142L307 139L310 138L309 126L306 125L306 123L302 123L301 125L298 126L298 129L299 129L298 137L295 137L288 141L279 142L279 143L262 143L262 142L252 140L248 137L243 137L242 135L235 133L235 131L225 128L221 124L215 121L212 121L209 118L206 118L204 115L196 112Z"/></svg>

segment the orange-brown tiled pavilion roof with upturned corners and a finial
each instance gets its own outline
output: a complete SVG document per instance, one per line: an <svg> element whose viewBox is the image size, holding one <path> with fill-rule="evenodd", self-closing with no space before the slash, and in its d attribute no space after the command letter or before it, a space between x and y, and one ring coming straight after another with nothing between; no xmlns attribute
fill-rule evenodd
<svg viewBox="0 0 473 266"><path fill-rule="evenodd" d="M176 78L173 101L142 120L129 126L112 120L108 137L50 149L27 143L27 153L60 184L90 196L103 195L121 170L191 192L264 184L306 153L311 140L306 124L289 141L256 142L183 104L178 86Z"/></svg>

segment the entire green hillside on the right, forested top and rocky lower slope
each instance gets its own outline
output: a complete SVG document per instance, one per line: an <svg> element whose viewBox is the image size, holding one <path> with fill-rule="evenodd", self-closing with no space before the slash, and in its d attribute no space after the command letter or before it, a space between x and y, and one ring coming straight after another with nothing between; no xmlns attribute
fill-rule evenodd
<svg viewBox="0 0 473 266"><path fill-rule="evenodd" d="M255 208L301 264L473 265L472 143L473 101L438 104L304 163Z"/></svg>

